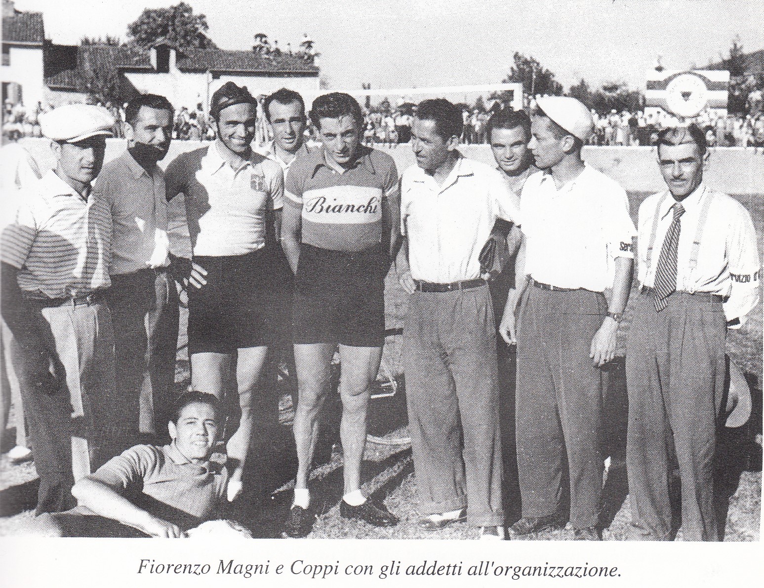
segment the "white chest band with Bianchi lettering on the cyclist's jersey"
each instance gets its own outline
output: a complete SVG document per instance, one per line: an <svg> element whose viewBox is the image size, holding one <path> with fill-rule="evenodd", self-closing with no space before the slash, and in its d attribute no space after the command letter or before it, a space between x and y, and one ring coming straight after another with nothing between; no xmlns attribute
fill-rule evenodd
<svg viewBox="0 0 764 588"><path fill-rule="evenodd" d="M382 218L382 190L332 186L303 194L303 219L332 225L367 225Z"/></svg>

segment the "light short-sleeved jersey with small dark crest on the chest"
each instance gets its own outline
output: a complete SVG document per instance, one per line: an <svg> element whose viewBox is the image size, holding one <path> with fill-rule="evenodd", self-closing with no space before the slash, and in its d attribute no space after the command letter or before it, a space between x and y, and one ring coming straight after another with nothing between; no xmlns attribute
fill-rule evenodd
<svg viewBox="0 0 764 588"><path fill-rule="evenodd" d="M263 248L270 212L283 207L283 171L278 163L253 152L234 170L216 144L182 153L164 173L167 199L183 194L183 208L170 206L170 244L183 250L186 224L193 255L244 255Z"/></svg>

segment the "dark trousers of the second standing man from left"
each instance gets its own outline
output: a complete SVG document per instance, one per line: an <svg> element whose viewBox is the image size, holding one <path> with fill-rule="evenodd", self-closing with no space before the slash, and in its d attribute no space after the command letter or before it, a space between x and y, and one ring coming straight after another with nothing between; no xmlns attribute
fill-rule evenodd
<svg viewBox="0 0 764 588"><path fill-rule="evenodd" d="M109 296L115 331L118 394L112 425L121 430L117 454L139 433L167 435L174 400L178 293L166 271L112 276Z"/></svg>

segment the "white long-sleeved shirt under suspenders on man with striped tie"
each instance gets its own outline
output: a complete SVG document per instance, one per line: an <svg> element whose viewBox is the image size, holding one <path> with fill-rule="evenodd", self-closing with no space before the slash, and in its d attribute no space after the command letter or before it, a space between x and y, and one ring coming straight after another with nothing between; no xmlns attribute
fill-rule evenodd
<svg viewBox="0 0 764 588"><path fill-rule="evenodd" d="M698 249L698 266L690 269L692 244L698 232L698 221L704 200L713 193L706 224ZM649 196L639 206L639 283L652 287L661 247L674 215L675 199L667 192ZM681 201L685 214L681 215L681 231L677 250L677 289L687 292L708 292L724 296L724 314L727 320L740 319L759 303L761 261L756 230L751 215L736 199L715 192L701 183ZM656 212L659 216L656 240L647 267L652 225Z"/></svg>

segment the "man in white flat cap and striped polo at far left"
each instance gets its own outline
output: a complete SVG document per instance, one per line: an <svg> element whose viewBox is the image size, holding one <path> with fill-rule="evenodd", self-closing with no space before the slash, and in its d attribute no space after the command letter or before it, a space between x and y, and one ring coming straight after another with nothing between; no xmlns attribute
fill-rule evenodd
<svg viewBox="0 0 764 588"><path fill-rule="evenodd" d="M56 167L26 191L2 234L2 315L15 337L40 489L37 514L70 508L98 460L102 405L114 395L105 305L112 217L90 197L114 118L67 105L40 116Z"/></svg>

